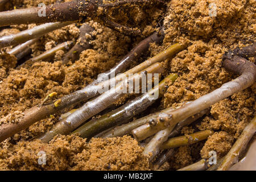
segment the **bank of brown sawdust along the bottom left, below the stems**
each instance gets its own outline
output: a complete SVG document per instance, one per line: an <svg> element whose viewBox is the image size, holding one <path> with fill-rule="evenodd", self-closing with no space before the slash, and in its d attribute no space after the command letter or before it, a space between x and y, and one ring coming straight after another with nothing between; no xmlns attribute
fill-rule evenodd
<svg viewBox="0 0 256 182"><path fill-rule="evenodd" d="M46 164L39 164L40 154ZM0 151L0 169L6 170L148 170L148 157L131 137L100 139L86 143L75 135L57 136L49 144L18 142ZM40 153L41 152L41 153Z"/></svg>

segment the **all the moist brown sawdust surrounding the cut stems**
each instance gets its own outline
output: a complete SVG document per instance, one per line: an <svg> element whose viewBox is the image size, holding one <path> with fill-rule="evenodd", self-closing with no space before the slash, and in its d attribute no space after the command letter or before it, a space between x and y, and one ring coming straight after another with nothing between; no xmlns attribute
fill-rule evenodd
<svg viewBox="0 0 256 182"><path fill-rule="evenodd" d="M6 6L13 9L37 6L42 1L17 0ZM47 5L54 0L44 0ZM35 63L30 68L15 69L16 59L7 55L12 47L2 48L0 55L0 123L18 122L22 111L40 104L51 92L57 97L79 90L93 81L98 73L108 71L133 48L143 37L150 35L163 15L166 36L161 46L151 44L150 55L154 56L174 43L187 46L164 63L163 76L171 72L179 74L176 82L168 85L164 97L151 111L166 107L177 107L195 100L236 78L221 66L221 57L228 49L243 47L255 42L256 2L250 1L199 1L172 0L167 2L167 11L158 6L133 6L127 13L123 9L113 10L110 14L122 24L142 27L143 34L130 38L119 34L96 22L89 22L95 29L93 49L83 51L80 59L72 65L64 66L60 51L51 61ZM209 16L209 4L216 3L217 16ZM11 26L0 31L0 36L15 34L35 24ZM55 47L67 40L79 37L77 24L53 31L31 46L31 56ZM135 63L134 63L135 64ZM138 63L136 63L138 64ZM176 148L170 162L161 169L178 169L208 158L209 151L216 151L221 158L232 147L243 128L255 115L255 86L233 94L214 104L210 114L194 125L184 127L181 135L205 129L215 133L207 140ZM122 104L127 97L117 102ZM67 111L67 110L66 110ZM38 140L25 141L51 129L59 121L60 113L15 134L0 144L0 169L11 170L130 170L150 169L143 148L131 137L112 139L85 139L77 136L57 136L49 144ZM38 164L38 152L46 151L47 164ZM154 167L151 167L154 168Z"/></svg>

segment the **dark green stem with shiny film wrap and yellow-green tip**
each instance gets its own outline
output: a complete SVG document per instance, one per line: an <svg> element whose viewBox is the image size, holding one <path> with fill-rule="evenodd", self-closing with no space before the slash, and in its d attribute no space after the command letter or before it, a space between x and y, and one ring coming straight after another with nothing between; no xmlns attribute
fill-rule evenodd
<svg viewBox="0 0 256 182"><path fill-rule="evenodd" d="M125 105L111 111L110 113L102 115L99 119L92 119L79 127L79 129L73 131L73 133L79 133L83 138L91 138L101 131L117 125L120 122L125 123L126 121L129 121L129 119L134 115L141 113L143 110L147 109L148 106L152 105L156 99L162 97L166 82L174 82L176 78L176 74L167 76L159 83L159 85L155 86L155 88L152 88L147 93L127 102ZM158 97L154 98L154 96Z"/></svg>

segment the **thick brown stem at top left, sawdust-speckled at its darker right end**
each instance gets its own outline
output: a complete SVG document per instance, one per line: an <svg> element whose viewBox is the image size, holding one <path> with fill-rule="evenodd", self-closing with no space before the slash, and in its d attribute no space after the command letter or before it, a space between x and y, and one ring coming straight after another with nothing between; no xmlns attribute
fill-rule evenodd
<svg viewBox="0 0 256 182"><path fill-rule="evenodd" d="M93 18L97 12L94 0L75 0L46 7L31 7L0 12L0 26L11 24L52 23Z"/></svg>

